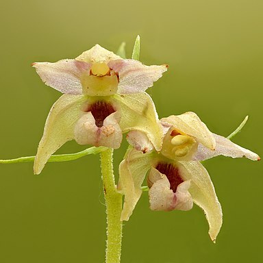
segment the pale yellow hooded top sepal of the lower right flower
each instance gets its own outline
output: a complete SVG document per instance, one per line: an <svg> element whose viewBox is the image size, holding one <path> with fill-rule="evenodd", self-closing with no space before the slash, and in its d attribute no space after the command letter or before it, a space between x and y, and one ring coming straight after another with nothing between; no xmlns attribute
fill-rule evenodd
<svg viewBox="0 0 263 263"><path fill-rule="evenodd" d="M189 136L193 136L197 139L197 142L201 142L202 145L214 150L216 147L216 141L212 132L206 127L199 116L195 112L186 112L181 115L171 115L167 118L162 118L161 121L166 126L173 125L175 129L180 132L184 132Z"/></svg>

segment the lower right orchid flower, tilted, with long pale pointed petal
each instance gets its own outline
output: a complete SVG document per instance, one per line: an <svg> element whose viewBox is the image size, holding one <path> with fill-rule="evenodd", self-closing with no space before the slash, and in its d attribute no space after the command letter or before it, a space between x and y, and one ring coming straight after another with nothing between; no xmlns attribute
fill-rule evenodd
<svg viewBox="0 0 263 263"><path fill-rule="evenodd" d="M222 225L221 205L202 160L217 155L260 160L252 151L229 139L212 134L194 112L161 119L163 144L156 151L145 134L132 131L129 148L119 166L118 189L125 195L122 219L127 221L142 194L142 182L149 172L151 210L190 210L193 203L205 212L210 238L215 242Z"/></svg>

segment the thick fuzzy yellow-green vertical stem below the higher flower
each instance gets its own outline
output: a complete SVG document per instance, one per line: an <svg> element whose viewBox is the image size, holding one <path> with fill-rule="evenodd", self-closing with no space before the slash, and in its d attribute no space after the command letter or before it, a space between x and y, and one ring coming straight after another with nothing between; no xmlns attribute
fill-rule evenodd
<svg viewBox="0 0 263 263"><path fill-rule="evenodd" d="M114 181L112 155L108 149L101 153L101 174L107 214L106 263L121 262L121 238L123 224L121 221L122 195L116 190Z"/></svg>

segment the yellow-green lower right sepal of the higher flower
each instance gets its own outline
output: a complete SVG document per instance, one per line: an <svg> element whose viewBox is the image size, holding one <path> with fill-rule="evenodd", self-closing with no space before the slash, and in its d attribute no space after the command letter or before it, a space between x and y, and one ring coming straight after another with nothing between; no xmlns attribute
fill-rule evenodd
<svg viewBox="0 0 263 263"><path fill-rule="evenodd" d="M129 95L114 95L116 103L120 105L123 132L138 130L147 135L156 151L162 147L162 125L151 97L146 93Z"/></svg>

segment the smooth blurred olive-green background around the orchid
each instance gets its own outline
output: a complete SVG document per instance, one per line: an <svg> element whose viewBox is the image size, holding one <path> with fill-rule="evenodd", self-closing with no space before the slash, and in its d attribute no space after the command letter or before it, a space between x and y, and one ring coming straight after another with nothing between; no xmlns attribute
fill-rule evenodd
<svg viewBox="0 0 263 263"><path fill-rule="evenodd" d="M1 3L0 157L34 155L60 92L32 62L75 58L96 43L130 55L137 34L145 64L169 64L149 90L160 117L194 111L234 142L262 154L263 1L58 1ZM84 149L68 142L60 153ZM125 147L116 151L116 168ZM262 262L262 163L205 163L223 207L216 245L196 206L151 212L147 193L124 223L123 263ZM117 170L116 170L117 171ZM99 156L0 166L0 262L103 262L105 204Z"/></svg>

